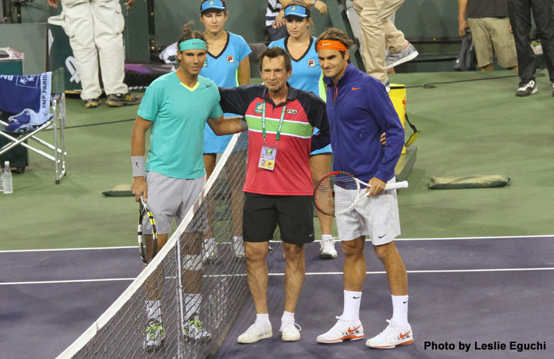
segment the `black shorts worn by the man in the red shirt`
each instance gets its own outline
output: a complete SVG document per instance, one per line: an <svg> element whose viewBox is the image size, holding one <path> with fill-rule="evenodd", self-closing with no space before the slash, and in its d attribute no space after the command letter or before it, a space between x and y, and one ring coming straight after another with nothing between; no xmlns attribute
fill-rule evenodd
<svg viewBox="0 0 554 359"><path fill-rule="evenodd" d="M242 239L267 242L279 225L283 242L301 245L314 241L311 195L260 195L244 193Z"/></svg>

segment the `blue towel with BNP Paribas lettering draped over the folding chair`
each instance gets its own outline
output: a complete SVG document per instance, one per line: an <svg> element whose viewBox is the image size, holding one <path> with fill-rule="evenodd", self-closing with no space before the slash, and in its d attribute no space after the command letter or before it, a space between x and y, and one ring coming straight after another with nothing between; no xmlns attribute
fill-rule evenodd
<svg viewBox="0 0 554 359"><path fill-rule="evenodd" d="M48 121L51 117L51 80L51 72L26 76L0 75L0 111L19 114L16 116L21 115L25 121L25 116L31 116L31 113L24 110L32 110L36 115L33 125Z"/></svg>

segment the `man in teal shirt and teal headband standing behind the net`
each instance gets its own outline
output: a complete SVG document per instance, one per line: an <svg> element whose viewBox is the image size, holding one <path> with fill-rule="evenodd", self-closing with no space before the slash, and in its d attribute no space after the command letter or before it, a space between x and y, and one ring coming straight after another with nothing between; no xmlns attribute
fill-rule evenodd
<svg viewBox="0 0 554 359"><path fill-rule="evenodd" d="M206 183L202 159L206 122L215 134L236 133L246 128L235 117L223 120L220 94L215 83L202 76L206 60L206 40L201 33L187 28L177 42L181 66L154 80L139 107L131 139L133 182L136 200L142 195L154 214L158 229L158 247L168 240L173 218L181 222ZM242 121L244 122L244 121ZM145 166L145 134L150 129L150 150ZM187 260L182 281L190 283L184 292L184 334L195 340L209 338L197 317L201 302L202 229L197 229L184 245ZM146 243L146 259L152 260L152 240ZM163 274L159 277L163 278ZM163 343L161 304L163 283L148 283L146 313L148 328L143 347L148 351Z"/></svg>

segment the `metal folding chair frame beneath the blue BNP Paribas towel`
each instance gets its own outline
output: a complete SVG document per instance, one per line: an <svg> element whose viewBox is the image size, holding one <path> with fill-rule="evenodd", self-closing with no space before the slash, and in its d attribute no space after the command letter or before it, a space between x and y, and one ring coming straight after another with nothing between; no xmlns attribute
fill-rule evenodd
<svg viewBox="0 0 554 359"><path fill-rule="evenodd" d="M38 153L50 159L54 162L55 170L55 184L60 184L60 180L64 175L66 175L66 163L65 163L65 143L64 143L64 127L66 124L66 107L65 107L65 79L64 79L64 69L60 68L55 70L52 73L51 80L51 94L54 94L51 100L51 114L53 115L51 119L42 123L37 128L29 132L21 132L14 134L14 132L6 133L0 131L0 135L9 140L6 145L0 148L0 155L4 152L8 152L11 148L15 146L24 146L28 150ZM24 109L21 109L24 110ZM1 121L1 125L8 125L8 123ZM43 139L39 139L35 135L38 132L53 130L53 143L48 143ZM39 143L42 146L45 146L53 152L53 155L50 153L39 150L28 144L28 139L33 140Z"/></svg>

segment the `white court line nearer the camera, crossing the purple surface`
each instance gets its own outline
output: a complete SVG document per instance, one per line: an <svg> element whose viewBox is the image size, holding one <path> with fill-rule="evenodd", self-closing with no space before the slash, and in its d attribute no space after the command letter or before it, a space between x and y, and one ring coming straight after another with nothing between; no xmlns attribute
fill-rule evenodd
<svg viewBox="0 0 554 359"><path fill-rule="evenodd" d="M491 268L475 270L408 270L408 273L467 273L467 272L528 272L531 270L554 270L554 267L544 268ZM306 275L342 275L343 272L310 272ZM386 272L366 272L366 274L386 274ZM232 274L231 277L243 277L245 274ZM269 273L270 276L284 276L285 273ZM229 277L229 274L206 275L204 277ZM20 284L55 284L55 283L87 283L101 281L134 281L134 278L106 278L106 279L73 279L67 281L19 281L0 283L0 286L17 286Z"/></svg>

